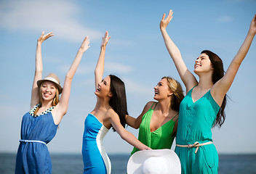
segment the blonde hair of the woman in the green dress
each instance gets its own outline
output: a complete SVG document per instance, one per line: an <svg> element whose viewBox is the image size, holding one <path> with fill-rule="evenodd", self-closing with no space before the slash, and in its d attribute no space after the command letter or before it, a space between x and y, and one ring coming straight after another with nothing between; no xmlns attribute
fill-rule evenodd
<svg viewBox="0 0 256 174"><path fill-rule="evenodd" d="M172 91L172 93L174 94L171 97L171 107L175 111L179 112L179 110L180 110L180 102L184 98L183 87L174 78L170 78L170 77L164 76L161 79L164 79L164 78L166 78L167 81L168 81L167 85L169 86L169 90Z"/></svg>

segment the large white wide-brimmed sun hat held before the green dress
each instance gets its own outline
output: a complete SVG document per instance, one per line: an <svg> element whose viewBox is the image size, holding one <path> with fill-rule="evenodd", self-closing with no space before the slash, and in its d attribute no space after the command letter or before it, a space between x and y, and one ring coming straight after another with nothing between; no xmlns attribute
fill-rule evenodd
<svg viewBox="0 0 256 174"><path fill-rule="evenodd" d="M144 150L132 154L127 174L180 174L180 159L171 149Z"/></svg>

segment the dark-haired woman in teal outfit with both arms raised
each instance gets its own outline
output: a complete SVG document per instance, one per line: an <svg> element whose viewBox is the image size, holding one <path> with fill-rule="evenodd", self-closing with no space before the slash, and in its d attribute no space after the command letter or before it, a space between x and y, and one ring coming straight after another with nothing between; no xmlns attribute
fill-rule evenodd
<svg viewBox="0 0 256 174"><path fill-rule="evenodd" d="M160 29L187 94L180 104L175 152L180 157L182 173L217 173L218 155L215 145L212 144L211 129L224 123L226 93L255 37L256 15L252 19L244 43L225 75L220 57L212 51L201 51L194 65L194 72L199 76L198 82L186 67L179 49L167 33L166 28L172 20L172 14L170 10L166 19L165 14L163 15Z"/></svg>

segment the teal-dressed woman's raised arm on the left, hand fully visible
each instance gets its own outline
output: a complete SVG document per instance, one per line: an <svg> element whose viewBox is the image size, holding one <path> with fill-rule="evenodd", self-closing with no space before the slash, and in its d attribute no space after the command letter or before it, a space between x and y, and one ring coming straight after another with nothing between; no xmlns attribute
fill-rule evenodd
<svg viewBox="0 0 256 174"><path fill-rule="evenodd" d="M197 84L197 80L186 67L185 62L181 57L180 50L177 48L167 33L166 28L169 22L172 20L172 14L172 10L169 10L169 14L166 19L165 14L163 14L160 22L160 30L169 55L172 57L172 60L175 63L175 67L177 68L177 72L179 73L181 80L183 80L183 83L185 84L186 90L188 92L191 88L193 88L193 86Z"/></svg>

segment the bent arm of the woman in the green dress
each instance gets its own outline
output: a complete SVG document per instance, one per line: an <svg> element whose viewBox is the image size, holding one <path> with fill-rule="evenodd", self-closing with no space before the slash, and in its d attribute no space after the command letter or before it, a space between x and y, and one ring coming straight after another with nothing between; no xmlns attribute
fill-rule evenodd
<svg viewBox="0 0 256 174"><path fill-rule="evenodd" d="M145 115L145 112L147 112L148 109L151 108L152 104L153 104L153 101L149 101L147 104L145 104L143 112L141 112L141 114L137 118L126 115L125 120L127 122L127 125L135 129L140 128L140 123L143 120L143 115Z"/></svg>

